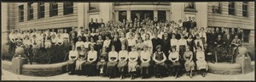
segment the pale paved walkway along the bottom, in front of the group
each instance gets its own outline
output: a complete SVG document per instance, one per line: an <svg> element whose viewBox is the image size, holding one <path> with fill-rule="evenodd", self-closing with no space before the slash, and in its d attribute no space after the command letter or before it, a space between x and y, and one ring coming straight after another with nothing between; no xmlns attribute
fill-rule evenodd
<svg viewBox="0 0 256 82"><path fill-rule="evenodd" d="M238 74L238 75L220 75L220 74L210 74L208 73L206 77L202 77L201 75L195 75L192 79L189 78L189 76L183 75L181 78L175 79L174 77L166 77L163 79L156 79L154 77L150 79L132 79L134 81L136 80L254 80L254 71L248 74ZM68 75L68 74L60 74L50 77L34 77L34 76L26 76L26 75L17 75L10 73L9 71L3 70L2 80L100 80L100 81L118 81L119 78L115 79L108 79L108 77L99 77L99 76L93 76L93 77L86 77L86 76L79 76L79 75ZM121 80L131 80L130 78L121 79Z"/></svg>

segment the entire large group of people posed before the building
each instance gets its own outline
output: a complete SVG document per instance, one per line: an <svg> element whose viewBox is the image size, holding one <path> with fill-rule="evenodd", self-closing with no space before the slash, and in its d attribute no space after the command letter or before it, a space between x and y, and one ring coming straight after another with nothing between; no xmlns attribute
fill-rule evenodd
<svg viewBox="0 0 256 82"><path fill-rule="evenodd" d="M97 21L97 20L96 20ZM102 19L101 19L102 21ZM205 30L206 29L206 30ZM21 40L28 52L51 47L65 47L68 52L67 71L69 74L107 75L110 79L121 79L131 75L157 78L172 75L178 78L185 72L190 77L195 71L207 74L207 61L222 50L236 52L241 46L242 30L234 28L196 27L195 18L159 22L156 19L123 20L117 23L91 22L89 29L73 27L55 32L52 30L15 30L9 34L10 50L15 41ZM64 54L63 54L64 55ZM216 58L216 57L215 57Z"/></svg>

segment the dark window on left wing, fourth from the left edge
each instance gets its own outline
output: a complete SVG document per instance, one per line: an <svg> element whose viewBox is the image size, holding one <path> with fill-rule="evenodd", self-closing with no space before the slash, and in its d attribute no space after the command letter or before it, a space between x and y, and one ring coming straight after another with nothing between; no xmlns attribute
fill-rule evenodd
<svg viewBox="0 0 256 82"><path fill-rule="evenodd" d="M49 17L58 15L58 3L49 4Z"/></svg>

